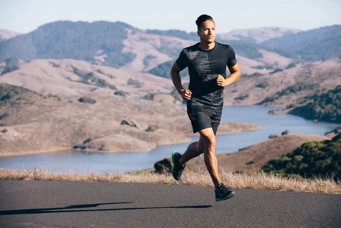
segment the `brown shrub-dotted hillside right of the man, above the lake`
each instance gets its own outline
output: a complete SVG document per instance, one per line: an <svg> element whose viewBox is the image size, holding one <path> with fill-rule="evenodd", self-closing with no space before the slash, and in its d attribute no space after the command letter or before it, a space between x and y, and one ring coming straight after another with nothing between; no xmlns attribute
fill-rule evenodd
<svg viewBox="0 0 341 228"><path fill-rule="evenodd" d="M299 63L288 69L269 73L244 74L237 83L224 89L226 105L261 104L267 106L302 106L307 98L341 85L338 60Z"/></svg>

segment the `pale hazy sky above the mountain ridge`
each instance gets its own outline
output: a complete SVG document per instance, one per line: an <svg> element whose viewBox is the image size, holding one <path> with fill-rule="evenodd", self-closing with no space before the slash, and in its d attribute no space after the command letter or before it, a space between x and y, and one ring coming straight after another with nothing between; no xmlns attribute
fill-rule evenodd
<svg viewBox="0 0 341 228"><path fill-rule="evenodd" d="M219 33L341 24L341 0L0 0L0 29L27 33L53 21L122 21L139 29L196 32L201 14Z"/></svg>

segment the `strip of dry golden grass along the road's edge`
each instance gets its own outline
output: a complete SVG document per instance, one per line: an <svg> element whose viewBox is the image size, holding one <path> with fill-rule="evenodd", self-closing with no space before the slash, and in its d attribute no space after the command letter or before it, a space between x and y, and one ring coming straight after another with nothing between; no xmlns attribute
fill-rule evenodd
<svg viewBox="0 0 341 228"><path fill-rule="evenodd" d="M233 173L220 171L221 181L231 188L252 188L277 191L308 191L341 194L341 183L326 178L296 179L284 178L266 173ZM54 180L54 181L95 181L95 182L133 182L168 185L190 185L213 187L207 172L186 170L181 181L175 181L169 173L156 174L152 171L133 173L58 173L43 168L31 171L0 169L0 180Z"/></svg>

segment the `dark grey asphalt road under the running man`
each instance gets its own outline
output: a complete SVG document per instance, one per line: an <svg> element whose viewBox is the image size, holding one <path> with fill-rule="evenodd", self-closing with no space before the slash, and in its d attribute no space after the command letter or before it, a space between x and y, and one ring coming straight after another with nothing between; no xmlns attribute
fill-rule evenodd
<svg viewBox="0 0 341 228"><path fill-rule="evenodd" d="M0 181L0 227L341 226L341 195L161 184Z"/></svg>

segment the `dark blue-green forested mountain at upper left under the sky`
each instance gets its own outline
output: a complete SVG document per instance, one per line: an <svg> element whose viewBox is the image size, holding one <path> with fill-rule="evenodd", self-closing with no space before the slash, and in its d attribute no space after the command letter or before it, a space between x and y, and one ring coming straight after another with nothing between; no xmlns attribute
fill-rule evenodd
<svg viewBox="0 0 341 228"><path fill-rule="evenodd" d="M3 58L75 59L95 62L101 52L107 55L107 65L119 67L131 62L134 54L121 53L126 29L132 26L122 22L57 21L40 26L37 30L0 42Z"/></svg>

